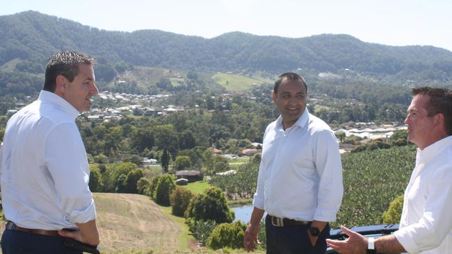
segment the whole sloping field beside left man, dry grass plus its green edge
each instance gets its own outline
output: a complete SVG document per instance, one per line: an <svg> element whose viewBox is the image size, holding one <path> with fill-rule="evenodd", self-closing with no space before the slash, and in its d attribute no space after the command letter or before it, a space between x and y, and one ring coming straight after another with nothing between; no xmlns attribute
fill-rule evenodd
<svg viewBox="0 0 452 254"><path fill-rule="evenodd" d="M101 251L109 254L246 253L197 246L184 218L137 194L95 193ZM262 252L255 252L262 253Z"/></svg>

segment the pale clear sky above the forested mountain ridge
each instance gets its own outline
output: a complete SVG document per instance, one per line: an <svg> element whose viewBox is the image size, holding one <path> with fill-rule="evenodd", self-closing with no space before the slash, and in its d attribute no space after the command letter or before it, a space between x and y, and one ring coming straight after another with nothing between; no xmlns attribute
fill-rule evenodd
<svg viewBox="0 0 452 254"><path fill-rule="evenodd" d="M452 51L451 0L0 0L0 15L35 10L108 31L158 29L205 38L241 31L348 34Z"/></svg>

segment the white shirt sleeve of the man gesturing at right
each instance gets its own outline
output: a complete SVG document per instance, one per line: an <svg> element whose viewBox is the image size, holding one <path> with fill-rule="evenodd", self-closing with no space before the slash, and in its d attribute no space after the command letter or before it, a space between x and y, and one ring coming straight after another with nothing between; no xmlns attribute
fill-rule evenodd
<svg viewBox="0 0 452 254"><path fill-rule="evenodd" d="M423 217L394 232L408 253L420 253L439 246L452 229L452 167L433 172L428 183Z"/></svg>

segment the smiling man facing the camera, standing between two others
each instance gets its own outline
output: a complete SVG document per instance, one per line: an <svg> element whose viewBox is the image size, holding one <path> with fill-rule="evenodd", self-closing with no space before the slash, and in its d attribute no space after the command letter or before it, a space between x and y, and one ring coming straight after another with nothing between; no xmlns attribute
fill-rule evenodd
<svg viewBox="0 0 452 254"><path fill-rule="evenodd" d="M259 221L266 216L267 253L325 253L343 186L337 139L324 121L309 114L307 85L295 73L275 82L280 117L269 124L250 224L243 244L255 249Z"/></svg>

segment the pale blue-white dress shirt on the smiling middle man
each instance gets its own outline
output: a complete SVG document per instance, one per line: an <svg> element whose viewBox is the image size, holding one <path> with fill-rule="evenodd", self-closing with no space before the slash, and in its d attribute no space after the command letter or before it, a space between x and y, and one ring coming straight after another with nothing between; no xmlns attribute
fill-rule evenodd
<svg viewBox="0 0 452 254"><path fill-rule="evenodd" d="M342 166L337 138L307 109L291 128L282 117L264 134L253 204L275 217L335 221L341 206Z"/></svg>

